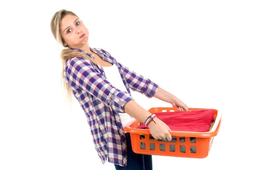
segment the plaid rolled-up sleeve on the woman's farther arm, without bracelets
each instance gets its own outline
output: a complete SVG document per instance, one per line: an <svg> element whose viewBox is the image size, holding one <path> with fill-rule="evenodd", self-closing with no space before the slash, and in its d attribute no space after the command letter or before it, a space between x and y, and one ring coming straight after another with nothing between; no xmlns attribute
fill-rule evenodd
<svg viewBox="0 0 256 170"><path fill-rule="evenodd" d="M150 79L143 77L140 74L131 71L125 65L122 65L120 62L117 62L122 70L122 74L124 75L129 88L133 91L140 92L141 94L147 96L148 98L152 98L154 94L156 94L158 85L152 82Z"/></svg>

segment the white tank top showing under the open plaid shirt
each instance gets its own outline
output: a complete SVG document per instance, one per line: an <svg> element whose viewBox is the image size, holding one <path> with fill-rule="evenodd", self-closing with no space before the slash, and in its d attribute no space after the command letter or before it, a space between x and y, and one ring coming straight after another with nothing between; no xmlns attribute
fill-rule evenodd
<svg viewBox="0 0 256 170"><path fill-rule="evenodd" d="M125 84L122 81L122 77L119 73L119 70L115 64L113 64L110 67L103 67L105 76L115 88L119 89L120 91L125 91L128 93L128 91L125 88ZM128 93L129 94L129 93ZM125 127L128 125L131 121L134 120L134 118L127 113L119 113L121 122L122 122L122 127ZM126 132L125 132L126 133Z"/></svg>

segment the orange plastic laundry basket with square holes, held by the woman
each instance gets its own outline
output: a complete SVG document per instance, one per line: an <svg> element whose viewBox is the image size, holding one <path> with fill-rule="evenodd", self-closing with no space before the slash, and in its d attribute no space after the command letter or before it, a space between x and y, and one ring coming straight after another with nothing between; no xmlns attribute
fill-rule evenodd
<svg viewBox="0 0 256 170"><path fill-rule="evenodd" d="M189 108L189 111L203 108ZM176 111L177 108L151 108L150 113ZM154 139L149 129L138 129L136 127L143 123L134 120L124 130L130 133L131 145L134 153L158 156L175 156L185 158L205 158L208 156L212 146L213 138L218 134L221 126L222 113L213 109L215 121L209 132L183 132L171 131L171 141Z"/></svg>

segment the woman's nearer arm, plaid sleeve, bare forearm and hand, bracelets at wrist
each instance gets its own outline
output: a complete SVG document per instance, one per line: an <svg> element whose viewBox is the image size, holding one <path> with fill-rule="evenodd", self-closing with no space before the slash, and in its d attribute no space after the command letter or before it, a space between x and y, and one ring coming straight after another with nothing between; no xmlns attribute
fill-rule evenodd
<svg viewBox="0 0 256 170"><path fill-rule="evenodd" d="M127 93L117 90L105 77L98 74L90 61L82 57L74 57L66 63L66 79L70 86L82 91L87 91L97 99L111 106L114 111L128 113L135 119L145 122L151 115L148 111L138 105ZM169 133L170 128L160 119L154 118L154 123L148 125L152 136L155 139L172 139Z"/></svg>

